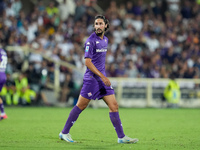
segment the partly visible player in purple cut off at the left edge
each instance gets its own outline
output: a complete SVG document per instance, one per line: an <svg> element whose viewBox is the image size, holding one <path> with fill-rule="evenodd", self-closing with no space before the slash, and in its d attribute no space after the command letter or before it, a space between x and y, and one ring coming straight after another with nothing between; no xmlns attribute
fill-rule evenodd
<svg viewBox="0 0 200 150"><path fill-rule="evenodd" d="M3 88L4 83L6 82L6 65L7 65L7 54L6 52L0 48L0 92ZM7 115L4 112L3 100L0 97L0 110L1 110L1 119L6 119Z"/></svg>

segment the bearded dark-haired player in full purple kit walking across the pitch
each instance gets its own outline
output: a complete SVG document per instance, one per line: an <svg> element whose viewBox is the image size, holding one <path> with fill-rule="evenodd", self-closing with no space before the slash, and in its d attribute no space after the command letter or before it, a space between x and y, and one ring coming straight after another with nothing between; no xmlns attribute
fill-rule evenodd
<svg viewBox="0 0 200 150"><path fill-rule="evenodd" d="M83 87L77 104L71 110L63 130L59 134L61 140L75 142L72 140L69 131L79 114L88 106L90 100L103 99L109 107L110 120L117 132L118 143L136 143L138 141L138 139L132 139L124 134L115 93L105 74L108 38L104 36L104 33L108 28L108 20L103 15L97 15L94 21L95 32L85 42L87 70L83 79Z"/></svg>

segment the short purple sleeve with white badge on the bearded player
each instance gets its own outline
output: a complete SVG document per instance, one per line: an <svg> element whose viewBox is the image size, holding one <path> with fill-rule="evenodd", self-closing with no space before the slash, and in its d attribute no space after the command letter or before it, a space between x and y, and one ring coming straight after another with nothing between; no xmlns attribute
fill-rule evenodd
<svg viewBox="0 0 200 150"><path fill-rule="evenodd" d="M91 40L85 42L85 58L91 58L94 54L95 45Z"/></svg>

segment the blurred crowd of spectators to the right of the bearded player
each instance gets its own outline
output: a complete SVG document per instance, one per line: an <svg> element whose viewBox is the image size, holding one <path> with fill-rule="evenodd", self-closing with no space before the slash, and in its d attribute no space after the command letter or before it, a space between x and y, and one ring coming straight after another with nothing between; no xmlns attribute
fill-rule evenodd
<svg viewBox="0 0 200 150"><path fill-rule="evenodd" d="M120 6L112 1L105 15L111 24L108 75L169 78L175 74L176 78L199 78L200 5L197 1L163 0L144 4L138 0Z"/></svg>

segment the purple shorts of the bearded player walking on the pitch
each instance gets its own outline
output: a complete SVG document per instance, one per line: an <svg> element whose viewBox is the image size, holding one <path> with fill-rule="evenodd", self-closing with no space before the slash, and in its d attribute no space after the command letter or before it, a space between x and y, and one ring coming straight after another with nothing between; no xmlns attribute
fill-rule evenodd
<svg viewBox="0 0 200 150"><path fill-rule="evenodd" d="M115 94L112 86L106 86L103 81L97 81L95 78L83 80L81 96L89 100L102 99L106 95Z"/></svg>

